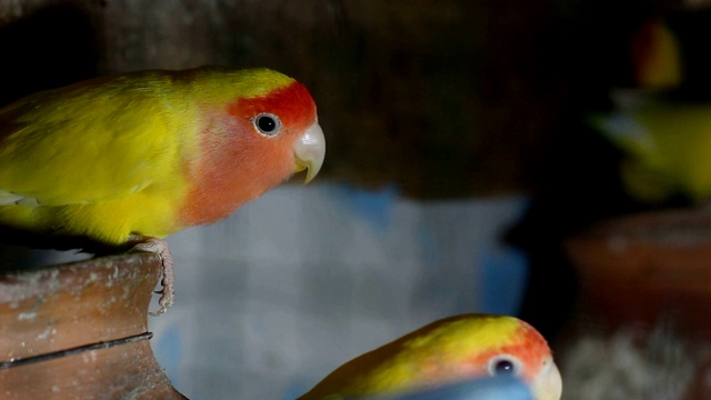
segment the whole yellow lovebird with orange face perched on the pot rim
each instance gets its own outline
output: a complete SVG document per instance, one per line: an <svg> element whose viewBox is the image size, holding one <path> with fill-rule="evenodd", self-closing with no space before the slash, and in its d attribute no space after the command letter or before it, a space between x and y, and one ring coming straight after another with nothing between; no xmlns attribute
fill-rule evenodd
<svg viewBox="0 0 711 400"><path fill-rule="evenodd" d="M306 87L268 69L138 71L0 109L0 241L153 251L308 169L326 143Z"/></svg>

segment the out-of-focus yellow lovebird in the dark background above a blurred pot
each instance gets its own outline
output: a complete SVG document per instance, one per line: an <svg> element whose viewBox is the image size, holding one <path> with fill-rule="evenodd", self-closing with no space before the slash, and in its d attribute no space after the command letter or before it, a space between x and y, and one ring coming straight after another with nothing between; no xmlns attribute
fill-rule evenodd
<svg viewBox="0 0 711 400"><path fill-rule="evenodd" d="M709 96L679 91L685 79L681 42L664 20L648 20L633 39L635 88L614 89L614 110L593 116L592 123L623 152L620 178L630 197L648 204L702 203L711 198Z"/></svg>

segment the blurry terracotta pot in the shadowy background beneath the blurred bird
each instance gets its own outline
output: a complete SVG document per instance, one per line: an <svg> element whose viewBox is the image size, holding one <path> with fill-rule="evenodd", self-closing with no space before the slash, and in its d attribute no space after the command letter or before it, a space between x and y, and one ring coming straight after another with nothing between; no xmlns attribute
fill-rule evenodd
<svg viewBox="0 0 711 400"><path fill-rule="evenodd" d="M687 333L711 338L711 210L613 219L568 240L565 251L582 312L612 327L671 316Z"/></svg>

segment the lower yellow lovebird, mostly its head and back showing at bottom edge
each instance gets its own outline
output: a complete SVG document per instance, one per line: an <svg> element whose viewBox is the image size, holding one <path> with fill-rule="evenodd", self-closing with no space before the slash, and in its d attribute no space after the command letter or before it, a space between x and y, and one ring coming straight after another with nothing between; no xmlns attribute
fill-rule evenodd
<svg viewBox="0 0 711 400"><path fill-rule="evenodd" d="M432 322L336 369L298 400L394 396L509 374L535 400L559 400L562 381L545 339L513 317L462 314Z"/></svg>

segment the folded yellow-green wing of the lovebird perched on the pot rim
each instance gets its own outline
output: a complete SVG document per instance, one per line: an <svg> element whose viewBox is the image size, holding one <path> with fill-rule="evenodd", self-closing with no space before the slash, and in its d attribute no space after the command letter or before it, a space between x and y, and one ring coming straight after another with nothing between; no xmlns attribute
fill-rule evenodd
<svg viewBox="0 0 711 400"><path fill-rule="evenodd" d="M0 110L0 189L62 206L169 178L178 142L160 99L116 83L41 92Z"/></svg>

